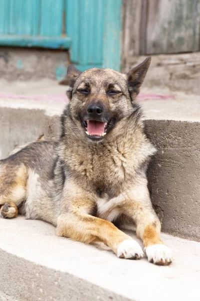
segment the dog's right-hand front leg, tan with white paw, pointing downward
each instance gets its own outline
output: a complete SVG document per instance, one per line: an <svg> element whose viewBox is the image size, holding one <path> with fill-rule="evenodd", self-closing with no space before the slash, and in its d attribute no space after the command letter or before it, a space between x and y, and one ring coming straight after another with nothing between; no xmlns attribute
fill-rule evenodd
<svg viewBox="0 0 200 301"><path fill-rule="evenodd" d="M136 235L143 240L148 261L158 265L170 264L172 252L160 238L160 221L152 208L147 187L135 185L127 196L121 204L122 212L136 224Z"/></svg>

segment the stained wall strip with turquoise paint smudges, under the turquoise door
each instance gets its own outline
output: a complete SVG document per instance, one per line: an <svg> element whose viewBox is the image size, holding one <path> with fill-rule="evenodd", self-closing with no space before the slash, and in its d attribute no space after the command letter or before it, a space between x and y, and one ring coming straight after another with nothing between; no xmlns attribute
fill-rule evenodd
<svg viewBox="0 0 200 301"><path fill-rule="evenodd" d="M0 79L61 80L68 65L68 51L0 47Z"/></svg>

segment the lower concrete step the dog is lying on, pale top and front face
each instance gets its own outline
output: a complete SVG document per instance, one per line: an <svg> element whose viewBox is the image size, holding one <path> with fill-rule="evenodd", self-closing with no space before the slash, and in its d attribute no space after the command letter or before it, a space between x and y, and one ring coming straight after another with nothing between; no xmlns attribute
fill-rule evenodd
<svg viewBox="0 0 200 301"><path fill-rule="evenodd" d="M57 237L42 221L0 218L0 300L197 301L200 243L162 239L174 253L170 266L119 259L103 244Z"/></svg>

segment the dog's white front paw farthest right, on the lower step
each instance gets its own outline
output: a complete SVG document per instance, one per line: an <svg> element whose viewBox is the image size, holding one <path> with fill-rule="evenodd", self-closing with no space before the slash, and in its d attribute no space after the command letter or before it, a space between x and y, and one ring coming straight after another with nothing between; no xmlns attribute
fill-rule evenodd
<svg viewBox="0 0 200 301"><path fill-rule="evenodd" d="M148 261L157 265L168 265L172 262L171 250L163 244L155 244L145 249Z"/></svg>

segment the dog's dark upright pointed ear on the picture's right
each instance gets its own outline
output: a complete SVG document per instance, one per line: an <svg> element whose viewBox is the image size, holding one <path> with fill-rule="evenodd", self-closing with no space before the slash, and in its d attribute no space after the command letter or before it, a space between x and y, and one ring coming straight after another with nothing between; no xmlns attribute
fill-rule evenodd
<svg viewBox="0 0 200 301"><path fill-rule="evenodd" d="M143 83L150 61L151 57L146 58L141 64L132 68L126 74L128 90L132 99L139 93L139 88Z"/></svg>

